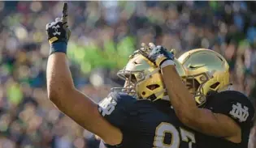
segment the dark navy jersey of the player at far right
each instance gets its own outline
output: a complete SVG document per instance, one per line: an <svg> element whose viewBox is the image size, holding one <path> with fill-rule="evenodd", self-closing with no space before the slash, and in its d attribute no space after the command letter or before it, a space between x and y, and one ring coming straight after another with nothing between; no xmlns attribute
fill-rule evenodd
<svg viewBox="0 0 256 148"><path fill-rule="evenodd" d="M222 137L196 134L199 148L245 148L248 145L249 131L253 125L254 107L249 99L238 91L222 91L211 96L205 108L212 112L229 116L241 127L241 143L233 143ZM210 144L209 144L210 143Z"/></svg>

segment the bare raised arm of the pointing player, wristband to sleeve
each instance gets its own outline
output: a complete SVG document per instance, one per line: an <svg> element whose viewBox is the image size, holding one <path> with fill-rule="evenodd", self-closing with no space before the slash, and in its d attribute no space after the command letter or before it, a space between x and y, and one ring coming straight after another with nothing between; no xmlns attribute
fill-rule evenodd
<svg viewBox="0 0 256 148"><path fill-rule="evenodd" d="M109 145L122 141L122 133L100 115L98 105L74 87L64 53L50 55L46 73L48 97L60 111Z"/></svg>

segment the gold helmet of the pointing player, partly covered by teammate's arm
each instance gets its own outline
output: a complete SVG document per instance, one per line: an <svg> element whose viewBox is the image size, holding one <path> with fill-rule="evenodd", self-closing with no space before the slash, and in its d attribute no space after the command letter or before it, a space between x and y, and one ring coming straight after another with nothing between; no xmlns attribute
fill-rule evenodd
<svg viewBox="0 0 256 148"><path fill-rule="evenodd" d="M176 63L176 70L180 75L184 75L184 69L179 61ZM149 61L143 54L133 54L124 70L119 70L119 78L126 80L123 91L129 95L135 95L137 99L157 99L169 100L163 85L160 69Z"/></svg>

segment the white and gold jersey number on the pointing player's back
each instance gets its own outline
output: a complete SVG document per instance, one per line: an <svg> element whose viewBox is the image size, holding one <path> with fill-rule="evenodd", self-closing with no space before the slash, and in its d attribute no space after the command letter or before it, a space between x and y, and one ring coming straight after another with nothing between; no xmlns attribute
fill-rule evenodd
<svg viewBox="0 0 256 148"><path fill-rule="evenodd" d="M164 137L166 133L171 134L171 143L164 143ZM162 122L155 130L154 136L154 147L161 148L179 148L180 147L180 137L184 142L188 142L189 148L192 148L192 144L196 143L194 134L188 130L180 128L180 133L175 126L167 122Z"/></svg>

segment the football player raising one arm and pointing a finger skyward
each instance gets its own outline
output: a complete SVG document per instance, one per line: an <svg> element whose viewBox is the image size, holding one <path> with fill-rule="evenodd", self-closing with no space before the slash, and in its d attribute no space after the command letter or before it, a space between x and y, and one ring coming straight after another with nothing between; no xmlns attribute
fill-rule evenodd
<svg viewBox="0 0 256 148"><path fill-rule="evenodd" d="M47 91L60 111L101 137L107 147L194 147L193 130L182 125L170 108L159 68L143 56L142 50L132 55L126 68L119 72L127 80L126 93L114 91L95 104L72 82L66 56L70 36L66 3L62 19L48 23L46 31L50 43ZM181 67L176 68L184 73ZM138 99L132 96L135 89Z"/></svg>

